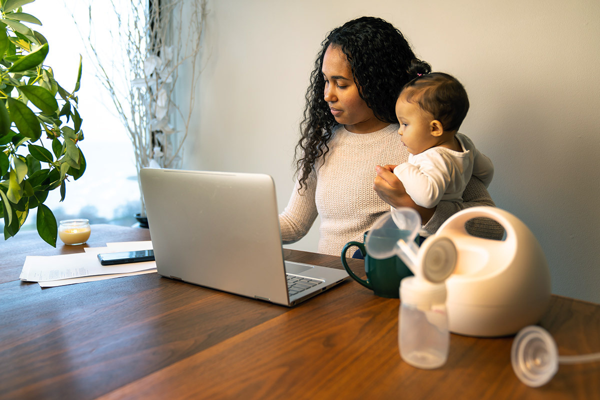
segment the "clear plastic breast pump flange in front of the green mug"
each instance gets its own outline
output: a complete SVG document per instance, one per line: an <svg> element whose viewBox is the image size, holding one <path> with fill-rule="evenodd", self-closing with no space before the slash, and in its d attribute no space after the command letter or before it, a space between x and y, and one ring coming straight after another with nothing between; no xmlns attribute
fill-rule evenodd
<svg viewBox="0 0 600 400"><path fill-rule="evenodd" d="M421 215L416 210L408 207L392 209L380 216L368 231L365 248L371 257L380 260L398 255L413 270L419 249L415 243L419 228Z"/></svg>

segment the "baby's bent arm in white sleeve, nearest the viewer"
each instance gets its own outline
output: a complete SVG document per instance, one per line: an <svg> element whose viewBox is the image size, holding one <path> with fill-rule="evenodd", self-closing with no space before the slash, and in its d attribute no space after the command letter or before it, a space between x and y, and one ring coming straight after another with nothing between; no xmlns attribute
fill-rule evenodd
<svg viewBox="0 0 600 400"><path fill-rule="evenodd" d="M416 204L435 207L450 184L450 167L437 152L418 154L412 163L395 167L394 174L403 183L406 193Z"/></svg>

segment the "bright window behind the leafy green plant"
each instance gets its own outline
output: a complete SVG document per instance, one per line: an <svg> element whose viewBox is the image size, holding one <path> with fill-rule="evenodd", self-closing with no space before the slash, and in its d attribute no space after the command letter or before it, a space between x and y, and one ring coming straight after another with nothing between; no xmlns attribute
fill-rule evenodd
<svg viewBox="0 0 600 400"><path fill-rule="evenodd" d="M90 2L106 4L104 0ZM80 3L80 4L79 4ZM91 223L133 225L134 213L140 210L140 191L134 162L133 147L125 128L112 112L112 100L95 77L94 64L86 55L86 43L81 39L71 14L80 25L87 26L88 2L38 0L26 4L23 11L38 17L43 26L35 26L47 38L50 51L44 64L50 65L56 80L67 90L72 90L77 77L79 55L83 56L83 73L79 94L79 114L83 118L85 139L80 148L86 158L86 171L82 178L67 182L65 200L61 203L58 190L49 194L44 202L56 217L88 218ZM112 7L105 13L113 13ZM127 9L127 7L124 7ZM110 23L106 15L92 14L98 26ZM110 49L110 37L97 35L100 50ZM110 57L110 53L106 55ZM106 63L109 65L109 63ZM22 230L35 230L35 211L32 210Z"/></svg>

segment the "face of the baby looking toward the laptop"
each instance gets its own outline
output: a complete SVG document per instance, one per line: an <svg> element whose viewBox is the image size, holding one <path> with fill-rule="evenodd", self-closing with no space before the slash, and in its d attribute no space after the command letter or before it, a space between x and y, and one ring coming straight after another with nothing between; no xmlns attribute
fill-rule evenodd
<svg viewBox="0 0 600 400"><path fill-rule="evenodd" d="M422 153L436 145L437 139L431 135L433 115L424 112L418 104L398 98L396 116L400 122L398 134L410 154Z"/></svg>

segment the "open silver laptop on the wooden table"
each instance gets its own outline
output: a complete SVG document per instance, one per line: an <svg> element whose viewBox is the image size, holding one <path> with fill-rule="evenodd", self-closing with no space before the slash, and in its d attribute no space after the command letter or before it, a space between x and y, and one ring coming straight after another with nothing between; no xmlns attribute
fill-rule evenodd
<svg viewBox="0 0 600 400"><path fill-rule="evenodd" d="M284 306L348 276L284 261L269 175L145 168L140 182L162 276Z"/></svg>

